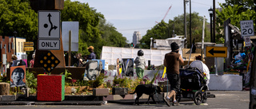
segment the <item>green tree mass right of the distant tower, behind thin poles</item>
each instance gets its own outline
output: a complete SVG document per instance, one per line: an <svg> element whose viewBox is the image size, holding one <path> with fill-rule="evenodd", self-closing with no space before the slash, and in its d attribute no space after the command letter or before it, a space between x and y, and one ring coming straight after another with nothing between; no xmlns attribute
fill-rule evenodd
<svg viewBox="0 0 256 109"><path fill-rule="evenodd" d="M190 17L189 14L186 14L186 24L187 24L187 34L186 39L190 48ZM198 16L198 13L194 12L191 14L191 41L195 39L195 42L202 42L202 24L203 24L203 17ZM154 25L152 29L147 30L146 35L142 37L141 43L145 43L146 45L141 45L144 49L150 49L150 37L153 39L166 39L169 38L168 29L170 32L170 37L173 37L172 34L182 35L184 36L184 15L179 15L178 17L174 18L174 21L169 20L169 23L165 21L159 22L157 25ZM207 23L206 23L207 25ZM173 33L174 29L174 33ZM209 30L205 29L205 41L210 41L210 33Z"/></svg>

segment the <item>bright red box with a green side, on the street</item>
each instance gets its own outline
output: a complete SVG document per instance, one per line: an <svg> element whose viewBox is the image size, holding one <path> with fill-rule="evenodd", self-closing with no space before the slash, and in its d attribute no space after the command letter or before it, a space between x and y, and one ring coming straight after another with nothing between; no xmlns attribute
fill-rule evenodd
<svg viewBox="0 0 256 109"><path fill-rule="evenodd" d="M38 101L62 101L65 99L65 76L38 76Z"/></svg>

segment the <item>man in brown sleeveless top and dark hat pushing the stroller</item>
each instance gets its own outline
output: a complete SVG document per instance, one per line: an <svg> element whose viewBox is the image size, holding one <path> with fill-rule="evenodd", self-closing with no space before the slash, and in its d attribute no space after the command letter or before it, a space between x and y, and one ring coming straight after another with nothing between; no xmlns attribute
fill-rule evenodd
<svg viewBox="0 0 256 109"><path fill-rule="evenodd" d="M182 56L178 53L178 44L173 42L170 44L171 52L166 53L164 59L164 66L166 67L167 79L170 82L170 93L164 97L164 101L167 106L170 107L170 98L173 98L173 104L179 105L178 101L175 99L175 95L178 92L181 81L179 77L179 65L184 64Z"/></svg>

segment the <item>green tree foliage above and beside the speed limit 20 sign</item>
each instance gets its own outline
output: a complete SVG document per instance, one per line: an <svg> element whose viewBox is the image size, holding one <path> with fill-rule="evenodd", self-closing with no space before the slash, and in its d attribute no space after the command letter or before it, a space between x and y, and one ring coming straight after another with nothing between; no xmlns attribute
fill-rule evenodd
<svg viewBox="0 0 256 109"><path fill-rule="evenodd" d="M240 13L240 10L244 8L244 6L222 6L222 4L219 4L222 7L222 10L216 10L216 22L219 25L216 25L216 31L218 32L218 37L216 37L217 42L223 43L224 34L222 33L224 21L226 21L228 18L230 18L230 24L235 25L238 28L240 28L240 21L245 20L254 20L256 18L256 13L254 10L245 10ZM254 22L255 26L255 22ZM255 29L254 29L255 31Z"/></svg>

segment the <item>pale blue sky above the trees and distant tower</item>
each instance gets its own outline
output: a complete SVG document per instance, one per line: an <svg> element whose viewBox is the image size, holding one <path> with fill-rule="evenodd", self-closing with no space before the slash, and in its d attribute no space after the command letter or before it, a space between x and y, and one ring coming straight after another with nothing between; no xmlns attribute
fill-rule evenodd
<svg viewBox="0 0 256 109"><path fill-rule="evenodd" d="M71 0L86 3L94 7L97 12L103 14L106 21L115 28L128 42L132 41L134 31L139 31L142 36L146 30L156 25L156 21L164 18L164 21L173 20L174 17L184 14L183 0ZM225 0L215 0L215 7L220 7L218 2ZM206 16L207 22L210 22L208 10L213 7L213 0L191 0L191 12L197 12L199 16ZM190 12L189 2L186 5L186 12Z"/></svg>

